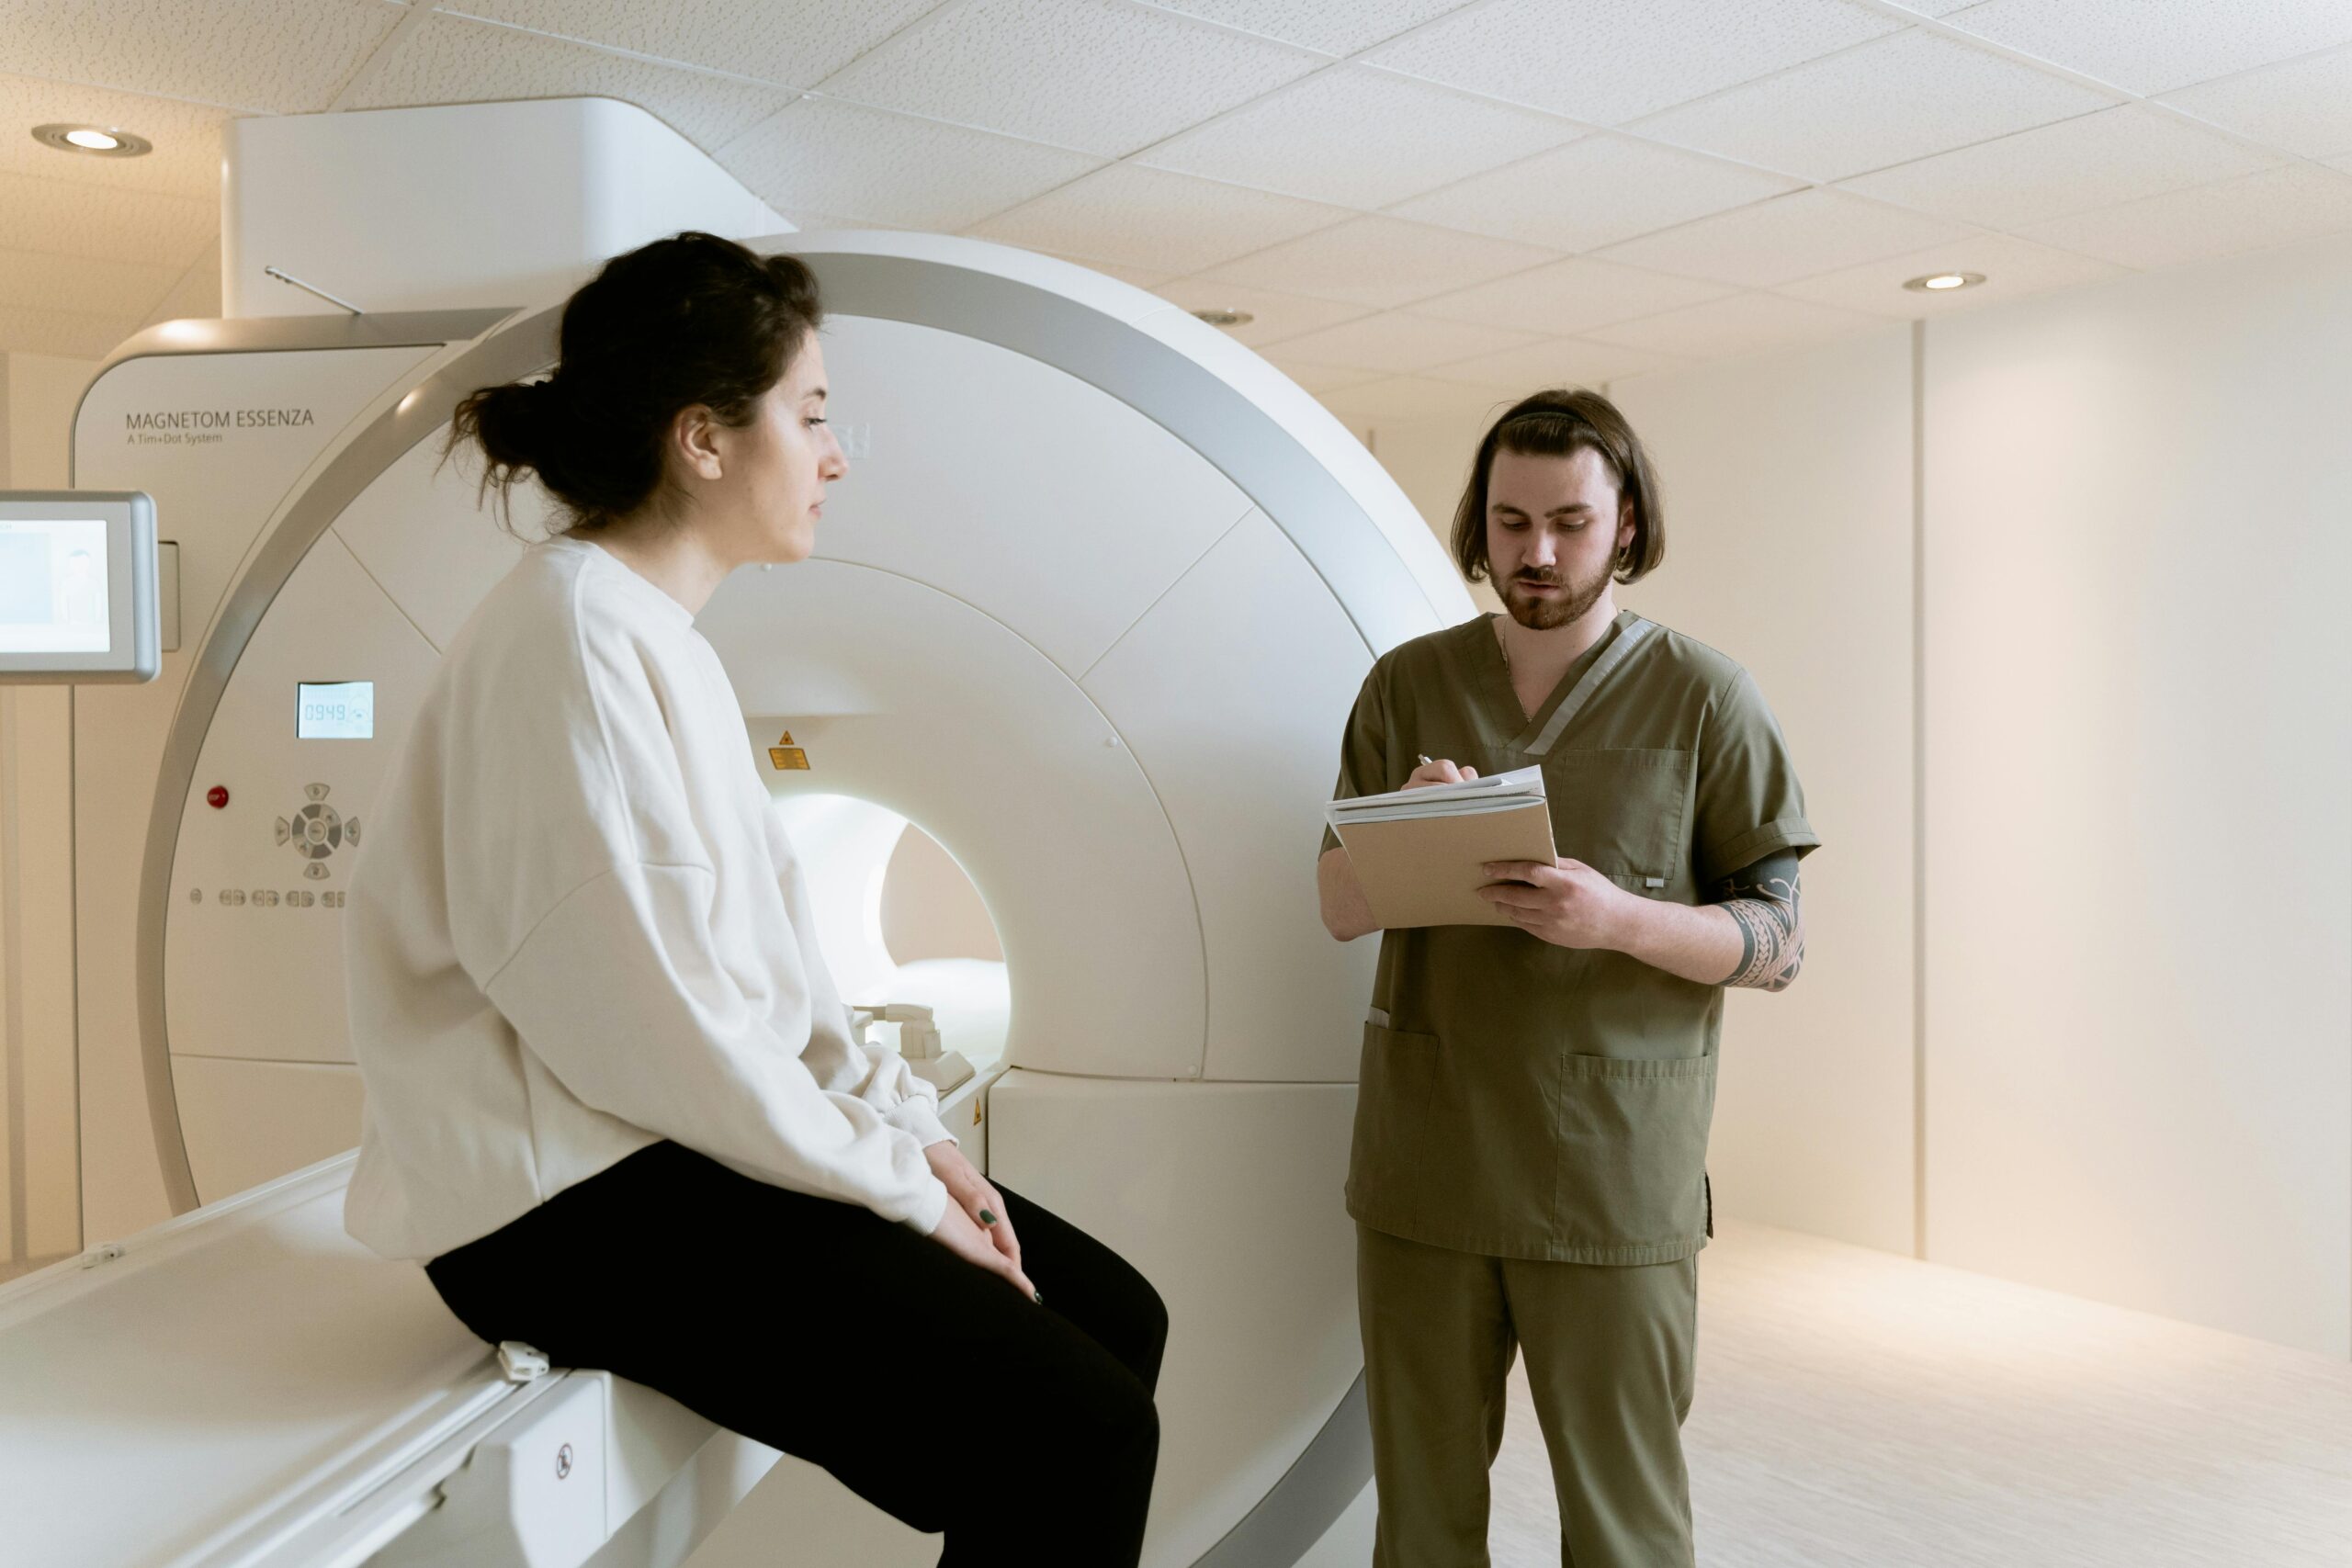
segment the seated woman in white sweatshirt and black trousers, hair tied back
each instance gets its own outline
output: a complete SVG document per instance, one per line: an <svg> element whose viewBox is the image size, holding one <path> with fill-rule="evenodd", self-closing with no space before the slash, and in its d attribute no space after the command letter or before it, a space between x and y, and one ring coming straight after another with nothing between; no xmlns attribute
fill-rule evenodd
<svg viewBox="0 0 2352 1568"><path fill-rule="evenodd" d="M1160 1295L851 1041L694 630L849 468L816 327L800 261L677 235L572 296L553 378L459 407L485 489L536 473L569 527L449 644L369 816L346 1222L485 1340L811 1460L946 1568L1134 1563ZM950 1382L985 1441L929 1429Z"/></svg>

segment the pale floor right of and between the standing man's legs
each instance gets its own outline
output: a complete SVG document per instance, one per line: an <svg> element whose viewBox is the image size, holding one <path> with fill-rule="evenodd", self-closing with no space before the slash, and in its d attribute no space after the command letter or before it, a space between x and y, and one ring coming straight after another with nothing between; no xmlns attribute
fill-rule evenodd
<svg viewBox="0 0 2352 1568"><path fill-rule="evenodd" d="M2352 1568L2352 1363L1757 1225L1700 1255L1703 1568ZM1559 1563L1512 1373L1496 1568Z"/></svg>

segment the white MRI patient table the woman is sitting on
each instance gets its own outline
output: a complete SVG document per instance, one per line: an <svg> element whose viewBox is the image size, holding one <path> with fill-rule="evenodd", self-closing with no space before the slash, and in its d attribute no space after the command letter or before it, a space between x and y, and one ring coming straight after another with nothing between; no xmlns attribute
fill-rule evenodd
<svg viewBox="0 0 2352 1568"><path fill-rule="evenodd" d="M774 1460L607 1373L510 1380L343 1234L350 1159L0 1288L5 1561L644 1568Z"/></svg>

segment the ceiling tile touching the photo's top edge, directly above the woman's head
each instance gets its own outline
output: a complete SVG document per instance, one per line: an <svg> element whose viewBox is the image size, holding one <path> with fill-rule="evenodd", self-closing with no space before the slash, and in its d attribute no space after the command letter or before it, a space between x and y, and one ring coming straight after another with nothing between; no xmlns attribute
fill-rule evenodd
<svg viewBox="0 0 2352 1568"><path fill-rule="evenodd" d="M456 0L442 9L788 87L814 87L938 2Z"/></svg>

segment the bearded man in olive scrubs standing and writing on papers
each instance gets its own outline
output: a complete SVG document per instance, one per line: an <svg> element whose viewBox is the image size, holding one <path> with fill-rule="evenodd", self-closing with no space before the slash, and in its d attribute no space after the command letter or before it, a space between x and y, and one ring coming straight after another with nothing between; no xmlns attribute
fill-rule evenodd
<svg viewBox="0 0 2352 1568"><path fill-rule="evenodd" d="M1348 1166L1381 1523L1376 1568L1486 1563L1505 1375L1552 1458L1562 1561L1691 1568L1682 1420L1724 987L1804 961L1820 839L1755 679L1616 607L1665 555L1616 407L1526 397L1454 520L1508 616L1390 649L1338 795L1543 766L1557 863L1482 870L1510 924L1385 931ZM1324 835L1324 924L1376 931Z"/></svg>

